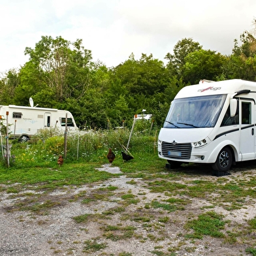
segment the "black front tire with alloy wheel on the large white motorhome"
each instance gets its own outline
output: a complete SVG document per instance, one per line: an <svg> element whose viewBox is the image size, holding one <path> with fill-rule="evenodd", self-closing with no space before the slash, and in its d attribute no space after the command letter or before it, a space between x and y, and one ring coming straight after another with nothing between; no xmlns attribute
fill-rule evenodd
<svg viewBox="0 0 256 256"><path fill-rule="evenodd" d="M212 168L220 172L227 172L231 168L232 161L232 151L230 148L225 147L217 155L216 162L212 165Z"/></svg>

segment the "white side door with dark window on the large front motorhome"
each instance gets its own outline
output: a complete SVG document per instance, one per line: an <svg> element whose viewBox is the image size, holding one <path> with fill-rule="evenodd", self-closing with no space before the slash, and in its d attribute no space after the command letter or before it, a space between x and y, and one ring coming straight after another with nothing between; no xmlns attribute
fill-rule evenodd
<svg viewBox="0 0 256 256"><path fill-rule="evenodd" d="M255 102L249 99L240 99L240 152L242 161L255 159L255 122L254 112Z"/></svg>

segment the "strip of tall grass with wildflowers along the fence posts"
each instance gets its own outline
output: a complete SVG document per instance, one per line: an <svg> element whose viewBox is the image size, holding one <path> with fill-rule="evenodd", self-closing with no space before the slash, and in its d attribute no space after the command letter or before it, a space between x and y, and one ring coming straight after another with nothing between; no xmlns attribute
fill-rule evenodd
<svg viewBox="0 0 256 256"><path fill-rule="evenodd" d="M112 148L116 155L121 155L122 146L127 146L129 152L154 153L156 133L148 135L149 131L136 131L131 134L130 129L112 129L99 131L79 131L67 134L67 157L65 162L97 162L104 163L108 148ZM56 165L59 155L64 155L64 135L57 131L42 131L32 140L20 143L10 140L11 157L10 168L52 167ZM2 155L2 154L1 154ZM3 165L6 166L6 157Z"/></svg>

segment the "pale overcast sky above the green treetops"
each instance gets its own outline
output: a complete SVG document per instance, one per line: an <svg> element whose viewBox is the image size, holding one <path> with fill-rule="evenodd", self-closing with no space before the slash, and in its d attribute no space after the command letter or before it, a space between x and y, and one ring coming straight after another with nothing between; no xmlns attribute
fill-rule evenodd
<svg viewBox="0 0 256 256"><path fill-rule="evenodd" d="M0 0L0 72L18 69L42 36L82 39L94 61L115 67L131 53L164 57L191 37L205 50L232 53L252 31L255 0Z"/></svg>

